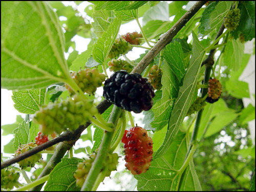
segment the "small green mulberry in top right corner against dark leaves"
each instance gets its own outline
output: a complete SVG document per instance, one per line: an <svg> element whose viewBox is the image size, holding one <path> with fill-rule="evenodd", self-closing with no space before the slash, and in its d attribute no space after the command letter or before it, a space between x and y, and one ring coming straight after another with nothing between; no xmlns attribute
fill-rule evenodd
<svg viewBox="0 0 256 192"><path fill-rule="evenodd" d="M229 31L234 31L237 29L240 22L241 14L240 9L231 9L224 20L224 26Z"/></svg>

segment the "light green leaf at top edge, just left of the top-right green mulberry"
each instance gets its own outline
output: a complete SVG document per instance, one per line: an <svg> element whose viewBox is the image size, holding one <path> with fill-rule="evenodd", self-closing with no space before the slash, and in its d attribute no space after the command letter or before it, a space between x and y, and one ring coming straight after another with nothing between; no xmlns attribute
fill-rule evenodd
<svg viewBox="0 0 256 192"><path fill-rule="evenodd" d="M231 5L231 1L221 1L216 5L214 11L210 13L210 30L215 29L219 24L223 22L223 19L227 12L230 10Z"/></svg>

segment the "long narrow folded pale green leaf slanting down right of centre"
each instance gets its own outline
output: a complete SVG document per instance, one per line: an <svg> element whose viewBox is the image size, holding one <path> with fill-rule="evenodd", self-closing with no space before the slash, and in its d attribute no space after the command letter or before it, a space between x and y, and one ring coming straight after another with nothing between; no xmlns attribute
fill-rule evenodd
<svg viewBox="0 0 256 192"><path fill-rule="evenodd" d="M173 139L179 130L184 117L187 114L192 98L197 87L197 78L199 75L201 63L205 54L203 46L200 44L197 35L193 34L193 54L191 56L186 75L183 80L183 85L179 89L178 98L175 99L172 114L169 117L168 130L165 140L159 150L156 152L155 158L161 157L169 148Z"/></svg>

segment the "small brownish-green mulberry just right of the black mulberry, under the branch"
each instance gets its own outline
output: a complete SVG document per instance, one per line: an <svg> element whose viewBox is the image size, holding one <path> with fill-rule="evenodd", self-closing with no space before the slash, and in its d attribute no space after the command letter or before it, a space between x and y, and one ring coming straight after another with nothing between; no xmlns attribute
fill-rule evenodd
<svg viewBox="0 0 256 192"><path fill-rule="evenodd" d="M157 65L154 65L148 74L148 82L152 84L155 90L160 90L162 88L161 79L162 70Z"/></svg>

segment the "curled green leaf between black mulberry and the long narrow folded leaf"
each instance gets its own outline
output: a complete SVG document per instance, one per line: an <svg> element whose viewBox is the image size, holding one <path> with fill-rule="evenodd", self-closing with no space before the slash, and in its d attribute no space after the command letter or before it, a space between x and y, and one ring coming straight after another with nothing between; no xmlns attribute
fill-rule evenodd
<svg viewBox="0 0 256 192"><path fill-rule="evenodd" d="M162 69L163 96L152 108L155 116L151 125L156 127L157 131L169 121L174 99L178 96L181 80L185 74L183 52L179 42L168 44L163 51L163 57L166 60Z"/></svg>

